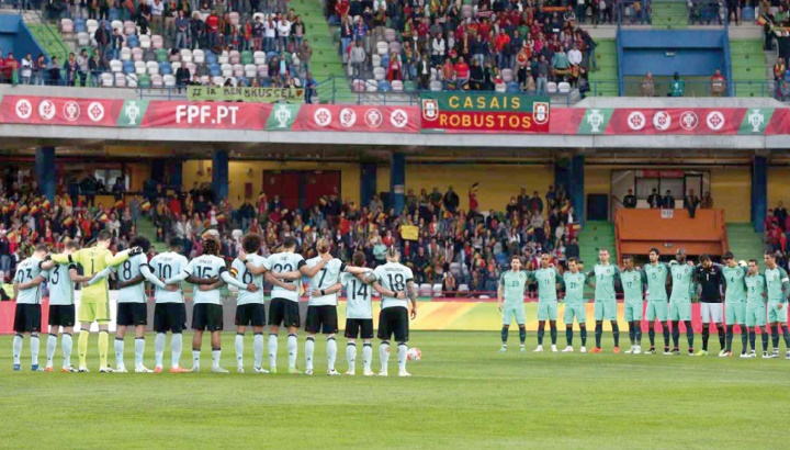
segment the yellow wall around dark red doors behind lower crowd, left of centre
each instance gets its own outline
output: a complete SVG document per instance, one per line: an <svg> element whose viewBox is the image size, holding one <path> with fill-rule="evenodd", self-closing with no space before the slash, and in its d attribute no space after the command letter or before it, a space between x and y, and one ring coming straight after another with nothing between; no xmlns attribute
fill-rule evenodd
<svg viewBox="0 0 790 450"><path fill-rule="evenodd" d="M212 167L210 159L203 160L203 175L199 175L201 161L190 160L183 162L183 184L191 188L195 182L203 183L212 181L208 168ZM249 173L252 169L252 173ZM228 164L230 185L228 187L228 200L234 206L244 203L245 184L252 183L252 195L255 200L263 185L264 170L339 170L340 190L343 199L360 203L360 165L358 164L335 164L335 162L285 162L285 161L239 161L232 160ZM388 179L388 178L387 178ZM270 199L271 200L271 199Z"/></svg>

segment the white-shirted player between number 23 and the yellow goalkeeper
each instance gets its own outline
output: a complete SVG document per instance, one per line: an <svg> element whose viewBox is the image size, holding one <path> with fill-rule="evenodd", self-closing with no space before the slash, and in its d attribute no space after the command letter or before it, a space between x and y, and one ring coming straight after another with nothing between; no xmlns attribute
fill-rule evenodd
<svg viewBox="0 0 790 450"><path fill-rule="evenodd" d="M78 250L77 243L69 240L65 245L64 255L71 255ZM76 319L75 311L75 282L82 283L90 281L91 277L79 274L78 263L67 262L65 265L56 265L49 269L46 279L49 285L49 338L47 339L47 362L46 372L53 371L53 359L57 348L57 337L63 329L60 338L60 347L63 349L64 363L61 372L76 372L77 369L71 367L71 349L74 341L71 335ZM94 277L94 281L103 279L112 269L106 268Z"/></svg>

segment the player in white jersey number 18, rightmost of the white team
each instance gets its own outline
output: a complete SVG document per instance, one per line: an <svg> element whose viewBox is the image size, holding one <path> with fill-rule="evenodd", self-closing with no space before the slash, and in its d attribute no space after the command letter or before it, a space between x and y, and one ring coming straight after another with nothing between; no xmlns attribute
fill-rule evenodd
<svg viewBox="0 0 790 450"><path fill-rule="evenodd" d="M386 252L386 263L375 268L373 273L376 281L373 286L383 286L393 292L405 292L411 301L411 318L417 318L417 289L414 285L411 269L398 262L400 252L395 247L390 247ZM380 376L387 375L387 363L390 362L390 339L393 334L398 342L398 376L411 376L406 371L406 353L408 352L408 326L409 313L408 301L395 296L382 296L382 311L379 313L379 357L381 359Z"/></svg>

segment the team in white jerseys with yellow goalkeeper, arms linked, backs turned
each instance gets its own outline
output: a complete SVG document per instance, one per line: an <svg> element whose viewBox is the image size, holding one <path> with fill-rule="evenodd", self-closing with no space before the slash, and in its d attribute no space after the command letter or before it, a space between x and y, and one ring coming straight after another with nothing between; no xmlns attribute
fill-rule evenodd
<svg viewBox="0 0 790 450"><path fill-rule="evenodd" d="M219 258L219 240L210 234L203 237L203 255L188 261L180 251L180 240L170 243L170 250L156 255L148 261L146 256L149 243L135 237L133 248L115 255L109 250L111 236L102 232L97 245L77 249L74 243L67 244L59 255L47 255L46 246L38 246L34 255L20 265L14 279L14 293L18 301L14 317L13 340L14 370L21 370L23 335L31 335L32 369L53 371L53 359L57 347L57 336L63 333L64 372L88 372L87 352L90 325L99 325L100 372L127 372L124 363L124 336L128 327L135 330L135 372L161 372L167 333L171 334L170 372L200 371L203 333L208 331L212 345L212 371L227 373L221 365L223 330L223 306L219 289L233 285L238 289L238 303L235 323L237 371L244 372L244 336L248 327L253 331L253 372L276 373L276 356L280 327L287 329L289 373L301 373L296 369L297 330L301 327L298 301L302 292L301 280L311 278L313 290L306 316L305 330L305 371L314 372L315 336L323 333L327 337L327 357L329 375L339 375L335 368L337 358L338 293L345 289L348 294L346 337L348 338L346 374L356 373L357 339L363 340L363 373L375 374L371 369L373 359L373 290L382 295L382 310L379 320L379 347L381 370L379 375L387 375L390 359L390 339L395 337L398 353L398 375L409 376L406 371L407 341L409 330L408 304L411 303L411 318L417 314L417 294L411 270L398 262L396 249L387 250L387 263L375 270L364 268L364 254L353 256L353 266L346 265L330 255L330 244L319 239L316 249L319 256L304 260L294 252L296 241L286 238L282 251L268 258L259 256L261 238L250 234L242 238L242 249L228 270L225 260ZM90 277L79 275L78 265ZM106 277L116 272L119 281L119 303L115 337L116 368L108 363L110 322L109 291ZM264 310L263 280L273 284L272 301L267 322ZM41 284L49 283L49 337L47 340L47 363L38 365L38 331L41 330ZM181 368L182 331L185 329L187 308L181 284L183 281L195 284L193 291L194 308L192 313L192 369ZM79 311L75 314L75 282L83 283ZM154 370L144 363L145 329L147 326L147 295L145 282L155 286L154 330L155 360ZM75 318L81 323L78 341L79 367L71 365L71 334ZM263 369L263 328L269 325L269 369Z"/></svg>

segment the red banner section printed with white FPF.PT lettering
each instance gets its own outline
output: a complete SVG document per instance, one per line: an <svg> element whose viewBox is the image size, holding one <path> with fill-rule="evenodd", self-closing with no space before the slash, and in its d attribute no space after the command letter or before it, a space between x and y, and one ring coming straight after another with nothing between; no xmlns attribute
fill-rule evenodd
<svg viewBox="0 0 790 450"><path fill-rule="evenodd" d="M264 130L269 103L149 101L143 128Z"/></svg>

